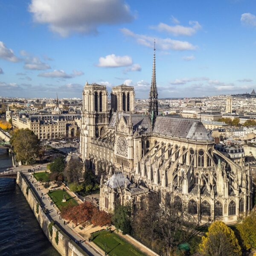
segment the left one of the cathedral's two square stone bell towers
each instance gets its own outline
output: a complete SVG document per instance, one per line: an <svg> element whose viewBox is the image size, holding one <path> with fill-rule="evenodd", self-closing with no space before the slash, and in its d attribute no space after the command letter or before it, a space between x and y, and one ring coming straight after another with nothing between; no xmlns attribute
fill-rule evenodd
<svg viewBox="0 0 256 256"><path fill-rule="evenodd" d="M108 124L108 93L105 85L88 84L83 90L82 125L80 152L82 159L88 159L88 147L92 138L105 131Z"/></svg>

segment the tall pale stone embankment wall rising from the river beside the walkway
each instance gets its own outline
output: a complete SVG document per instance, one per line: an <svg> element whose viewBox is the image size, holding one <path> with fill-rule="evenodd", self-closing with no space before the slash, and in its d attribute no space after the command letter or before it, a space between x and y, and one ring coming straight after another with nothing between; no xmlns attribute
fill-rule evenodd
<svg viewBox="0 0 256 256"><path fill-rule="evenodd" d="M71 240L58 227L55 221L47 215L46 209L41 205L38 195L32 190L27 178L21 172L17 173L16 183L25 196L44 234L58 253L60 253L61 256L87 256L87 253Z"/></svg>

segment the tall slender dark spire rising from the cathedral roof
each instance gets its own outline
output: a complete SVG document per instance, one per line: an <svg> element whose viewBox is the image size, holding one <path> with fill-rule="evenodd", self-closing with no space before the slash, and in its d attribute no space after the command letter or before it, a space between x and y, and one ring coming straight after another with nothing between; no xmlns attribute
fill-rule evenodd
<svg viewBox="0 0 256 256"><path fill-rule="evenodd" d="M149 93L148 114L151 116L151 125L154 125L155 119L158 115L158 102L157 102L157 82L156 82L156 42L154 41L154 57L152 68L152 80Z"/></svg>

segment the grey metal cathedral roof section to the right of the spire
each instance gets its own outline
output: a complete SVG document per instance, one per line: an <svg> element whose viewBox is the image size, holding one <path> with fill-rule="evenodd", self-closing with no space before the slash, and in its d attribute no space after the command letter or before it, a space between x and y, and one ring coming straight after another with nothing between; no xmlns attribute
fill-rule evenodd
<svg viewBox="0 0 256 256"><path fill-rule="evenodd" d="M194 119L157 116L153 133L190 140L213 140L204 125Z"/></svg>

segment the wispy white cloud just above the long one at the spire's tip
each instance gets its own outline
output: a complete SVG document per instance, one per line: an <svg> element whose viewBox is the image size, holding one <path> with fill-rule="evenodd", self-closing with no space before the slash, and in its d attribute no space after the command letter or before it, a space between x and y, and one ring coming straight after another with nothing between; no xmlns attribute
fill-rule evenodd
<svg viewBox="0 0 256 256"><path fill-rule="evenodd" d="M199 29L201 29L201 25L198 23L198 21L189 21L188 26L181 26L181 25L175 25L175 26L169 26L166 23L160 22L157 26L150 26L151 29L156 29L160 32L167 32L172 35L178 36L178 35L187 35L191 36L194 35Z"/></svg>

